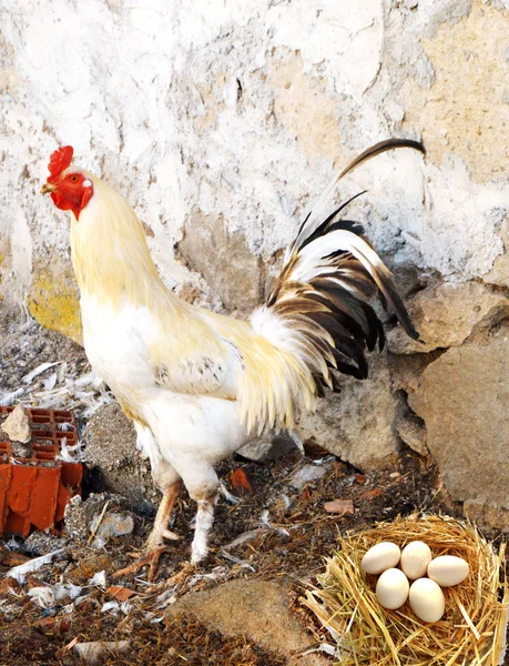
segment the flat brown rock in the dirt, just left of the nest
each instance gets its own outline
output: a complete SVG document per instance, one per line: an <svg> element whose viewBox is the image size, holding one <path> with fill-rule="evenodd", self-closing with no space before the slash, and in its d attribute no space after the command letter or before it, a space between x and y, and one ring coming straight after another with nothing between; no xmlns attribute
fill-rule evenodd
<svg viewBox="0 0 509 666"><path fill-rule="evenodd" d="M291 612L288 588L276 581L228 581L220 587L187 594L167 614L191 613L223 634L246 635L288 658L291 666L318 666L317 655L298 657L314 640Z"/></svg>

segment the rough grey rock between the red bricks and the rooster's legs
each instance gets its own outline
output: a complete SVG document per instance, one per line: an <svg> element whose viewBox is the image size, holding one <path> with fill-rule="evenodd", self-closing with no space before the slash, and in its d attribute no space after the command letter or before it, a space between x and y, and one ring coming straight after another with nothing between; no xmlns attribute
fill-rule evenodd
<svg viewBox="0 0 509 666"><path fill-rule="evenodd" d="M136 450L136 434L132 422L118 403L100 408L85 430L86 461L96 466L104 486L125 497L135 511L152 512L159 504L150 473L149 461Z"/></svg>

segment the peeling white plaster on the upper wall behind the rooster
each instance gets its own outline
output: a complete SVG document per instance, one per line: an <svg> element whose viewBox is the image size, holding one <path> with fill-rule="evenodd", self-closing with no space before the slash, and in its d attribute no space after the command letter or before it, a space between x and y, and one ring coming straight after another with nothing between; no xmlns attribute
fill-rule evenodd
<svg viewBox="0 0 509 666"><path fill-rule="evenodd" d="M498 4L483 3L507 22ZM67 251L65 216L38 194L60 144L132 202L164 279L179 284L190 276L172 249L193 206L223 214L268 259L336 168L371 142L423 130L445 144L438 163L381 157L343 192L369 189L355 212L396 261L482 278L503 253L507 175L474 180L442 128L405 121L411 98L401 94L411 81L432 95L421 40L470 11L446 0L1 0L10 293L26 297L32 258Z"/></svg>

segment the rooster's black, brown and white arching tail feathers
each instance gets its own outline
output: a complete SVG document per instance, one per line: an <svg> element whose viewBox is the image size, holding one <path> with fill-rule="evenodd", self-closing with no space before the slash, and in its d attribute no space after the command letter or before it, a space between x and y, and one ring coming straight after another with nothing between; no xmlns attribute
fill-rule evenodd
<svg viewBox="0 0 509 666"><path fill-rule="evenodd" d="M370 157L403 145L424 152L413 141L378 143L354 160L334 184ZM328 188L319 209L330 193ZM299 356L313 374L318 393L324 385L336 387L329 369L365 379L368 373L365 350L374 350L377 342L383 349L384 329L368 303L373 295L388 302L406 333L419 339L390 271L363 238L362 225L337 219L350 201L322 221L316 209L308 214L266 305L253 317L258 333Z"/></svg>

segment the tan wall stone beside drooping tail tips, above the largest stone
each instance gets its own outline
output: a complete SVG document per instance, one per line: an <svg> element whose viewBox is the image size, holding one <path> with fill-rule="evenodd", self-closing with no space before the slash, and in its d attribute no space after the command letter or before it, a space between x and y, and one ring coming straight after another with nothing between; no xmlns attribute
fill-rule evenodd
<svg viewBox="0 0 509 666"><path fill-rule="evenodd" d="M479 282L429 284L407 307L424 344L406 335L400 326L387 336L394 354L415 354L459 346L470 335L485 331L509 314L507 295Z"/></svg>

